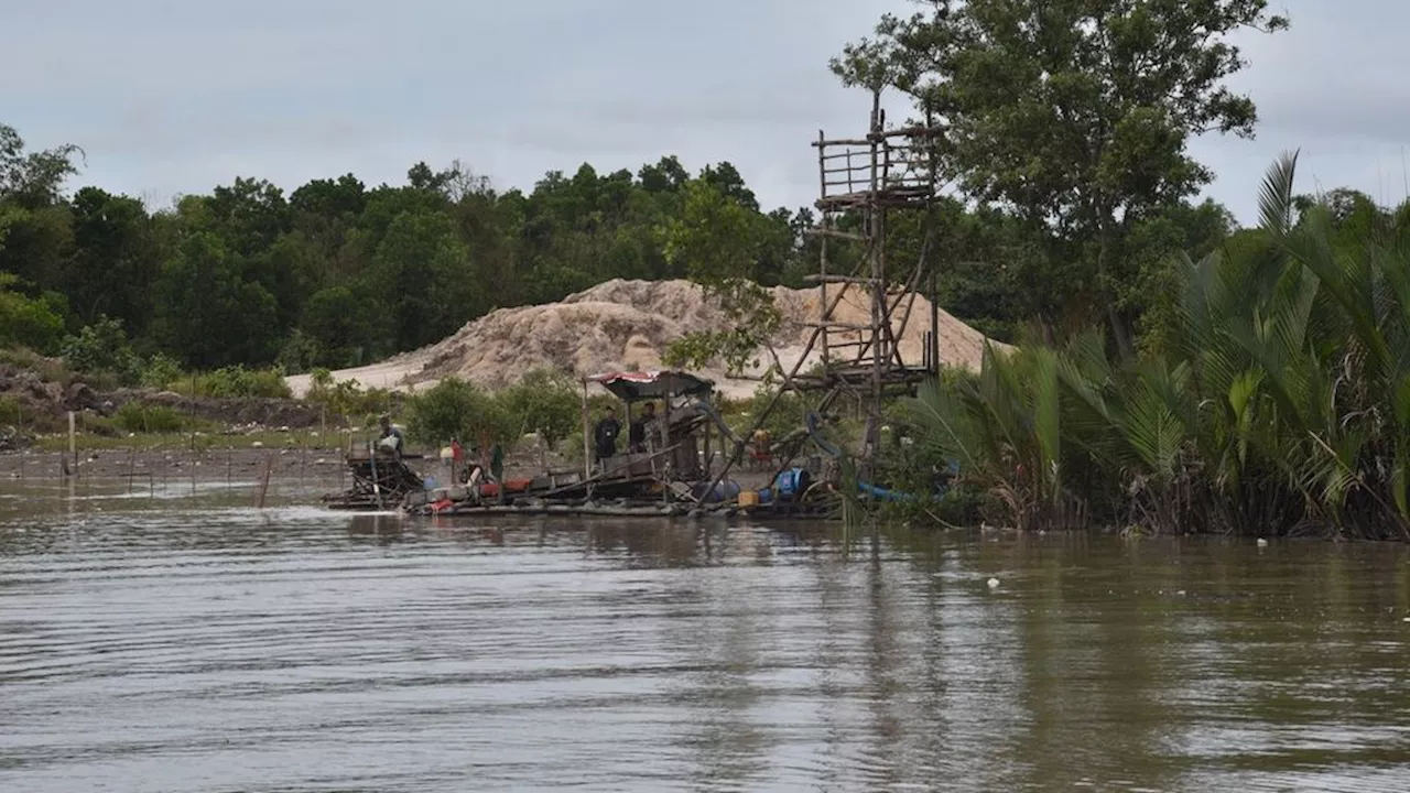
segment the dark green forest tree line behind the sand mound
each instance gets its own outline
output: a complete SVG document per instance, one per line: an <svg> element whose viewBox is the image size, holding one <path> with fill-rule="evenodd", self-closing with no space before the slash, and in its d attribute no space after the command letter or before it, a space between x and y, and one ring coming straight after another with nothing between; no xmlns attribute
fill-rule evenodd
<svg viewBox="0 0 1410 793"><path fill-rule="evenodd" d="M361 365L437 341L496 308L561 299L611 278L746 278L807 285L812 210L766 212L729 162L691 174L663 157L634 174L581 165L532 190L498 190L461 164L416 164L403 185L354 175L285 193L237 178L164 209L85 186L79 151L27 151L0 126L0 344L117 368ZM918 248L919 219L891 243ZM1081 312L1072 265L1018 214L946 199L942 305L1011 340ZM1139 234L1144 261L1210 246L1230 229L1217 205L1172 205ZM845 246L829 255L845 264ZM1145 267L1145 265L1144 265ZM86 346L85 346L86 344ZM113 350L92 358L92 350ZM117 358L127 360L120 365Z"/></svg>

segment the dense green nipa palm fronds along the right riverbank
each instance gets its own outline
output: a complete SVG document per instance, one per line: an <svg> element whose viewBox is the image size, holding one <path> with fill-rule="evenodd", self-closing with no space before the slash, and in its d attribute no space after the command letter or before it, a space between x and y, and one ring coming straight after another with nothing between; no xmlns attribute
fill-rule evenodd
<svg viewBox="0 0 1410 793"><path fill-rule="evenodd" d="M1265 182L1262 227L1179 272L1177 320L990 351L908 404L924 446L1034 528L1410 539L1410 223Z"/></svg>

